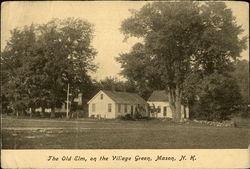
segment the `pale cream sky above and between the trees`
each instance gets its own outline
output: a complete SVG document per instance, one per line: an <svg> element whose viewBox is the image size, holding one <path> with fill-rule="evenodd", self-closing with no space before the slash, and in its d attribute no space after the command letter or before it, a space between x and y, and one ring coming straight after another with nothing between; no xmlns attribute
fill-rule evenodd
<svg viewBox="0 0 250 169"><path fill-rule="evenodd" d="M117 77L121 71L115 61L120 53L125 53L137 42L131 38L124 42L119 28L121 22L131 16L128 9L140 9L146 1L23 1L4 2L1 6L1 50L10 38L10 30L32 23L46 23L52 18L75 17L86 19L94 24L95 33L92 45L98 54L95 63L99 66L91 76L100 80ZM242 35L249 36L249 6L247 2L226 2L232 9L239 25L245 30ZM249 60L249 47L242 52L242 59Z"/></svg>

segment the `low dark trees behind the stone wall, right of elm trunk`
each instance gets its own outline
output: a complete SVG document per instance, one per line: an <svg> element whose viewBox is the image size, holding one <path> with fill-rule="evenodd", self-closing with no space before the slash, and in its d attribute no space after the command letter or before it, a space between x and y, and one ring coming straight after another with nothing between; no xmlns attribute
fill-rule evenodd
<svg viewBox="0 0 250 169"><path fill-rule="evenodd" d="M228 118L230 114L233 116L249 116L249 112L247 111L247 105L249 103L248 61L237 60L233 63L233 68L234 70L230 72L229 75L217 73L203 77L201 74L196 73L188 76L184 83L184 96L185 98L188 98L190 105L190 116L192 118L210 120L213 118L220 120L223 118ZM215 80L217 77L218 80ZM211 80L212 78L214 82ZM223 83L220 81L221 79L224 80ZM213 88L216 89L213 90L213 92L208 91L207 88L205 88L205 86L212 85L214 86ZM211 94L209 95L208 92ZM206 95L201 97L201 93L205 93ZM222 96L219 97L219 95ZM216 107L215 105L218 104L221 104L220 108L218 110L214 108L214 111L212 112L212 107ZM213 117L216 115L215 113L217 113L219 117ZM220 117L221 115L223 117Z"/></svg>

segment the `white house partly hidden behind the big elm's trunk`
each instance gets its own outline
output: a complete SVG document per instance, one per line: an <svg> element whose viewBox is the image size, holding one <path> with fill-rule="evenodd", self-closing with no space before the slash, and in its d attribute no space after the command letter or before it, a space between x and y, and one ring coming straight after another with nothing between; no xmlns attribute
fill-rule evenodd
<svg viewBox="0 0 250 169"><path fill-rule="evenodd" d="M148 104L151 107L159 109L159 113L156 113L154 117L157 118L173 118L172 110L169 105L168 94L164 90L154 91L148 99ZM181 105L181 116L182 118L189 118L189 109Z"/></svg>

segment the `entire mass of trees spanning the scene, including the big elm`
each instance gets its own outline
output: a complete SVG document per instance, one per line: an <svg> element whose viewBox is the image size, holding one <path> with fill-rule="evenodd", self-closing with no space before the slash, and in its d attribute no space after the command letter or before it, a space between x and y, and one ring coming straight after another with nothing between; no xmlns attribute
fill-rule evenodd
<svg viewBox="0 0 250 169"><path fill-rule="evenodd" d="M137 92L146 100L165 90L175 121L182 121L181 104L192 118L249 115L249 62L240 60L247 37L225 3L152 2L131 10L121 32L125 40L142 41L116 58L127 81L91 79L93 32L91 23L75 18L13 29L1 52L1 111L51 108L53 117L69 85L71 102L82 93L84 105L100 89Z"/></svg>

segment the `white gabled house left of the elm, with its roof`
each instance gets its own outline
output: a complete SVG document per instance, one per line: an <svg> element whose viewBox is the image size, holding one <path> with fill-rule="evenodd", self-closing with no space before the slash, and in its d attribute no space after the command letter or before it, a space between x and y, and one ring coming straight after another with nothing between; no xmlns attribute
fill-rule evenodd
<svg viewBox="0 0 250 169"><path fill-rule="evenodd" d="M134 115L138 108L147 110L147 102L135 93L101 90L88 102L88 107L89 117L113 119ZM146 111L142 115L146 116Z"/></svg>

